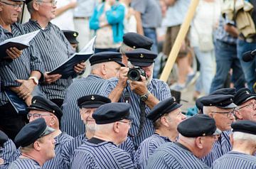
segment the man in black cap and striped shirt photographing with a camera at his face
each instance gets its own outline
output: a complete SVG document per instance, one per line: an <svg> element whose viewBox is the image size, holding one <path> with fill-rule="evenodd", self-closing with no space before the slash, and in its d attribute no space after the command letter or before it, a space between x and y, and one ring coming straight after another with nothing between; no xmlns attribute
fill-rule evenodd
<svg viewBox="0 0 256 169"><path fill-rule="evenodd" d="M128 102L131 104L131 113L134 116L130 133L135 148L145 138L154 133L153 123L146 119L159 100L171 97L168 85L153 79L154 59L157 54L149 50L138 48L125 53L128 58L128 67L121 67L119 78L109 80L110 85L106 93L112 102Z"/></svg>

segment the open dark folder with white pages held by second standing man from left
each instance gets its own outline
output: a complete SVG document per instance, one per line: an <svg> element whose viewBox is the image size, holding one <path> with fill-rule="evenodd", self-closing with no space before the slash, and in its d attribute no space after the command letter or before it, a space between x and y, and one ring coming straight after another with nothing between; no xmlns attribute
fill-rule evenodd
<svg viewBox="0 0 256 169"><path fill-rule="evenodd" d="M54 70L51 72L48 72L48 75L55 75L55 74L60 74L61 79L67 79L71 75L75 74L74 67L80 62L85 62L87 59L90 58L90 56L94 53L94 43L95 43L95 38L92 38L87 45L85 45L82 50L80 50L79 53L74 53L68 60L63 62L60 66L56 67Z"/></svg>

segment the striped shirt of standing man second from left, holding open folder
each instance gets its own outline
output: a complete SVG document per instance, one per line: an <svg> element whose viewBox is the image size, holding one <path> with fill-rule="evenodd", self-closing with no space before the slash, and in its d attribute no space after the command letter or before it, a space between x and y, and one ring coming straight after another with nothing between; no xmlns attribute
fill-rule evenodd
<svg viewBox="0 0 256 169"><path fill-rule="evenodd" d="M37 21L29 20L23 24L28 31L41 30L34 38L36 47L39 49L41 59L47 72L61 65L65 60L73 55L74 51L65 38L63 32L52 23L48 23L46 28L41 28ZM64 99L65 90L72 82L72 77L59 79L51 84L42 84L41 90L48 99Z"/></svg>

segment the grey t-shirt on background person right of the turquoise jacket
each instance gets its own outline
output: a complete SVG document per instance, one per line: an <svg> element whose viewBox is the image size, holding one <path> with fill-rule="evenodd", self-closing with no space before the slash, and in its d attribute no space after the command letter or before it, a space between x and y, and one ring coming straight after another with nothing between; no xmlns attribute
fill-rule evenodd
<svg viewBox="0 0 256 169"><path fill-rule="evenodd" d="M133 0L132 8L142 13L143 28L161 26L161 7L159 0Z"/></svg>

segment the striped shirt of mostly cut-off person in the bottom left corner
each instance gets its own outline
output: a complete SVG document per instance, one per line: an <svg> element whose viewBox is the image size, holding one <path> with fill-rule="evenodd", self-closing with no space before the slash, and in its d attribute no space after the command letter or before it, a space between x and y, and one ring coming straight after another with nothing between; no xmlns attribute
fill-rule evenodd
<svg viewBox="0 0 256 169"><path fill-rule="evenodd" d="M15 160L16 146L9 138L0 148L0 158L4 160L4 164L0 165L0 169L6 169Z"/></svg>

